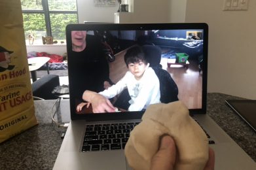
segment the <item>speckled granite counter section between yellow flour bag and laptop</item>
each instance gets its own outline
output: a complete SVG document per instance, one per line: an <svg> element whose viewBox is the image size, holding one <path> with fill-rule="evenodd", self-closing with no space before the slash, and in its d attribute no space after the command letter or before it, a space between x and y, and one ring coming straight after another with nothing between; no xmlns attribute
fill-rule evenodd
<svg viewBox="0 0 256 170"><path fill-rule="evenodd" d="M55 100L35 101L39 124L0 144L0 169L52 169L65 129L52 124Z"/></svg>

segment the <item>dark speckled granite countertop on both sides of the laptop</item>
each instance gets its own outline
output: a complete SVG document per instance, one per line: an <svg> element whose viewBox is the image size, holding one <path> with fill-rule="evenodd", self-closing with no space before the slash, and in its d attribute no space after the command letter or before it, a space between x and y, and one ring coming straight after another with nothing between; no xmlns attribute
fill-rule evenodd
<svg viewBox="0 0 256 170"><path fill-rule="evenodd" d="M222 93L208 93L208 114L256 161L256 135L225 103L241 99ZM0 169L52 169L62 144L64 127L52 124L54 100L35 101L39 125L0 144ZM68 116L68 115L67 115Z"/></svg>

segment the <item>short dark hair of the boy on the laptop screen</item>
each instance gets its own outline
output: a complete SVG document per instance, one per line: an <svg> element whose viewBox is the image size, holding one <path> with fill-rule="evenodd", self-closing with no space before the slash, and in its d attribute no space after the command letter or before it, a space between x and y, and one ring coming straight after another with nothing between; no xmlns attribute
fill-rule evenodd
<svg viewBox="0 0 256 170"><path fill-rule="evenodd" d="M127 50L126 54L124 54L124 62L127 67L129 63L138 63L139 61L142 61L146 65L148 63L145 59L145 53L140 46L133 46Z"/></svg>

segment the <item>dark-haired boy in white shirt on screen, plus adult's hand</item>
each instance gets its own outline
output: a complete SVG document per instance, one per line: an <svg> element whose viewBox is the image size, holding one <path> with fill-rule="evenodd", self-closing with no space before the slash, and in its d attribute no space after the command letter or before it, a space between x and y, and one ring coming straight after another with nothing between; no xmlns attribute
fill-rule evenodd
<svg viewBox="0 0 256 170"><path fill-rule="evenodd" d="M117 84L99 93L89 90L84 92L82 98L92 103L93 112L115 112L115 107L108 99L115 97L126 88L131 98L128 101L130 104L128 111L140 111L147 109L148 105L160 103L159 80L144 55L141 47L130 48L124 55L129 71Z"/></svg>

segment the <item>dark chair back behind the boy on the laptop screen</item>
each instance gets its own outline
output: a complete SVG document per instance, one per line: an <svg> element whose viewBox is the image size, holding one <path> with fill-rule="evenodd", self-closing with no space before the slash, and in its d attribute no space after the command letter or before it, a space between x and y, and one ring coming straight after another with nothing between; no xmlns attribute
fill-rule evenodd
<svg viewBox="0 0 256 170"><path fill-rule="evenodd" d="M160 65L162 51L160 47L154 45L144 45L142 46L145 52L145 57L150 63L150 67L155 71L156 76L158 76L160 82L160 101L162 103L170 103L173 101L178 101L179 90L177 84L172 79L172 76L168 71L162 69Z"/></svg>

